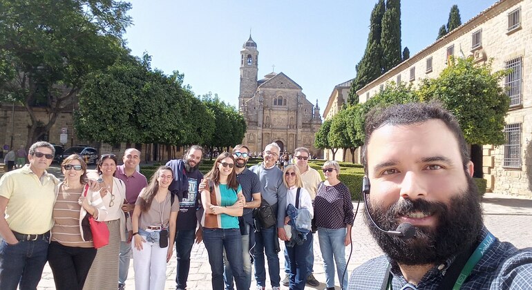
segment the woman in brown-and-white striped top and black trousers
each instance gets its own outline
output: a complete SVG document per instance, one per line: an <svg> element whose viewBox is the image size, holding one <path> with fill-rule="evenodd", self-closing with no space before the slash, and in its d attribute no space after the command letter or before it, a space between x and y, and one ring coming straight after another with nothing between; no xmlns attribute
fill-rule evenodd
<svg viewBox="0 0 532 290"><path fill-rule="evenodd" d="M84 237L82 220L87 213L105 220L107 209L99 191L88 189L84 196L87 164L81 156L66 157L61 171L65 178L56 188L48 264L56 289L81 290L96 255L93 242Z"/></svg>

